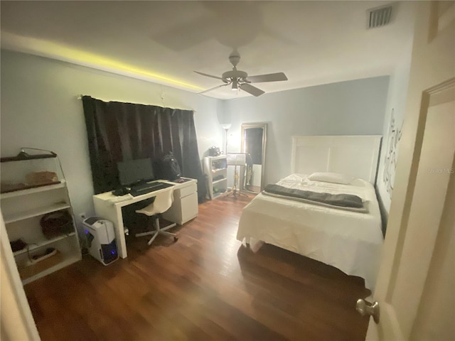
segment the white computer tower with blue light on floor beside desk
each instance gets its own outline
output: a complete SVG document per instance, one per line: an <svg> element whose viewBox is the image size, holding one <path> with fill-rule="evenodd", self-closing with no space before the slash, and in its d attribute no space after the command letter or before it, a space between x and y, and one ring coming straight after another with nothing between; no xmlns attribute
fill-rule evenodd
<svg viewBox="0 0 455 341"><path fill-rule="evenodd" d="M108 265L119 258L112 222L100 217L88 217L82 224L87 237L88 251L95 259Z"/></svg>

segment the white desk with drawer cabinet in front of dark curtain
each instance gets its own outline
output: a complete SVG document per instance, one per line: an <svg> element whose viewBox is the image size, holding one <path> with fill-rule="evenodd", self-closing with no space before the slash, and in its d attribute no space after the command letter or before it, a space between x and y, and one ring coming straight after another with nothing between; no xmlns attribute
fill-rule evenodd
<svg viewBox="0 0 455 341"><path fill-rule="evenodd" d="M122 207L131 205L134 202L149 199L158 193L173 189L173 203L171 208L164 212L163 217L170 222L185 224L198 216L198 194L197 180L185 178L184 183L173 183L167 180L158 180L161 183L171 183L173 187L155 190L154 192L138 195L131 194L116 196L112 191L93 195L93 204L95 205L95 214L114 224L115 238L117 240L117 251L119 256L127 258L127 244L125 242Z"/></svg>

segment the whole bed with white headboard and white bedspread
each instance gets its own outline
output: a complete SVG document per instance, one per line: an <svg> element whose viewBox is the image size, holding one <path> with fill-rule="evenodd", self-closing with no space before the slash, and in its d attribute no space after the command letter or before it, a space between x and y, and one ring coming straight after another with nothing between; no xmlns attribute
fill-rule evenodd
<svg viewBox="0 0 455 341"><path fill-rule="evenodd" d="M295 136L291 174L267 185L245 208L237 239L262 241L365 279L372 292L382 249L375 177L380 136ZM341 207L275 193L360 198ZM355 205L357 205L356 202Z"/></svg>

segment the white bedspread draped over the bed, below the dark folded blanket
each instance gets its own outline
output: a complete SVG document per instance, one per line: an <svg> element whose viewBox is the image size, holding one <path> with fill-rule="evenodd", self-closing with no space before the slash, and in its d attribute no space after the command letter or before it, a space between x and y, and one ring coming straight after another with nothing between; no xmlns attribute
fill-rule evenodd
<svg viewBox="0 0 455 341"><path fill-rule="evenodd" d="M378 200L373 185L355 179L351 185L323 183L292 174L277 184L324 193L358 195L368 213L349 212L259 193L240 216L237 239L262 240L322 261L365 279L374 291L382 249Z"/></svg>

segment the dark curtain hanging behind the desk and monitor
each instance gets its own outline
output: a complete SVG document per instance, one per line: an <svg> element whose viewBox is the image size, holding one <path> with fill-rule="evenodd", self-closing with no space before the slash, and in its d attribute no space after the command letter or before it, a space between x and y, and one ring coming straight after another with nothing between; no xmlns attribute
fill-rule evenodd
<svg viewBox="0 0 455 341"><path fill-rule="evenodd" d="M119 188L117 162L173 152L183 177L198 180L205 197L193 111L154 105L103 102L82 97L95 194Z"/></svg>

